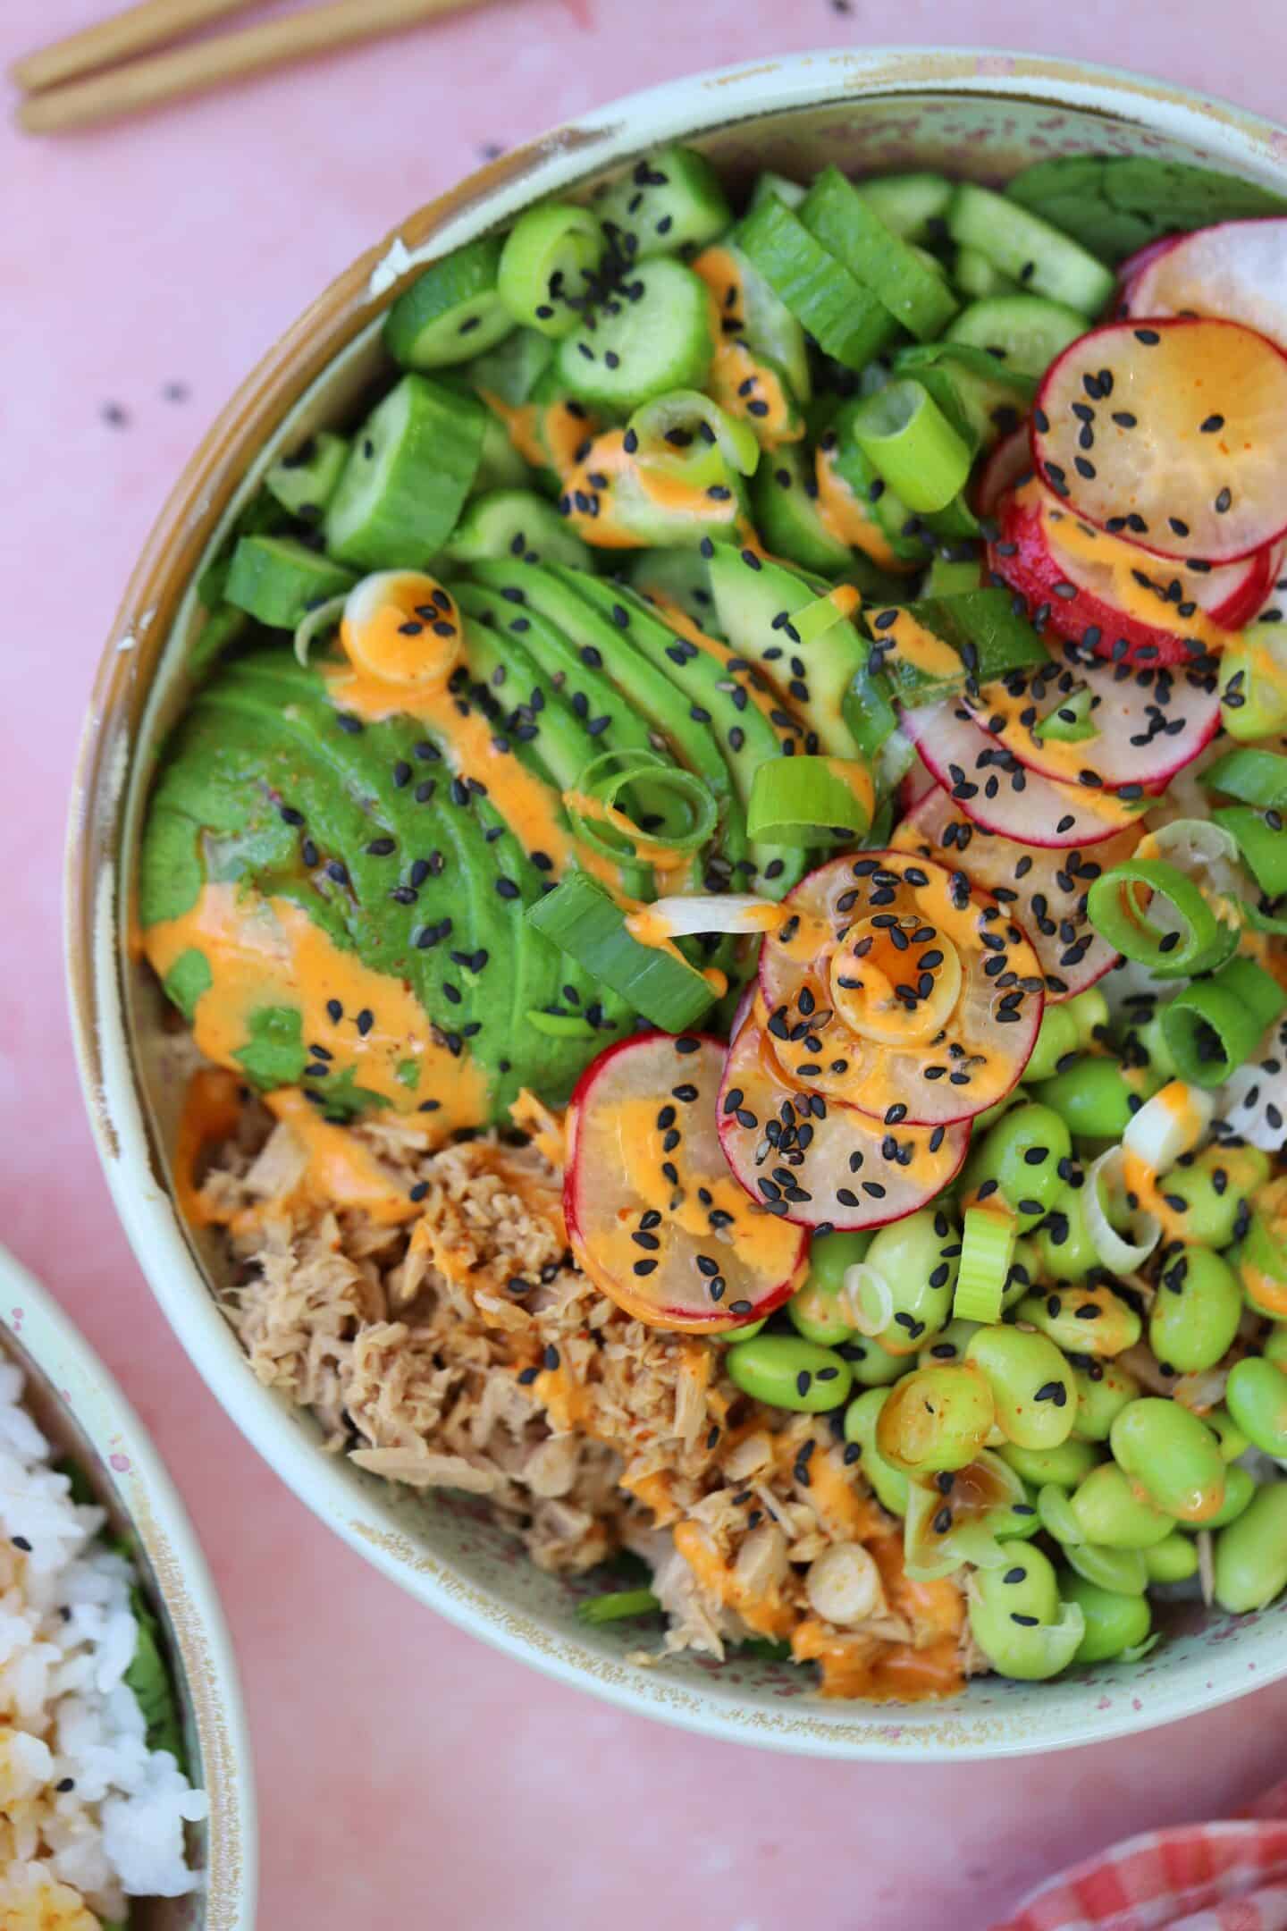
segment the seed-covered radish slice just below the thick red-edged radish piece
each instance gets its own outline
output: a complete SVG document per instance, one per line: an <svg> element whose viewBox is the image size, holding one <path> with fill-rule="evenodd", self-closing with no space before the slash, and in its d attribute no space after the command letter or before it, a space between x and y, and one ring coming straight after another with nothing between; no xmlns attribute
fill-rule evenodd
<svg viewBox="0 0 1287 1931"><path fill-rule="evenodd" d="M1021 765L1059 784L1135 792L1165 784L1219 730L1214 672L1088 662L1075 645L1036 670L1017 670L961 699ZM1046 722L1084 707L1092 738L1046 736Z"/></svg>

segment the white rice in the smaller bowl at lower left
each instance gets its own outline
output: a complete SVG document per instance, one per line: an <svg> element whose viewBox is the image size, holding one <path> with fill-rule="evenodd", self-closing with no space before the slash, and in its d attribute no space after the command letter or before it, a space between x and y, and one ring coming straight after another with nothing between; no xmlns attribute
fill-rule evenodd
<svg viewBox="0 0 1287 1931"><path fill-rule="evenodd" d="M127 1896L197 1885L193 1790L123 1682L135 1653L131 1564L96 1537L0 1359L0 1925L93 1931ZM29 1547L25 1547L29 1545Z"/></svg>

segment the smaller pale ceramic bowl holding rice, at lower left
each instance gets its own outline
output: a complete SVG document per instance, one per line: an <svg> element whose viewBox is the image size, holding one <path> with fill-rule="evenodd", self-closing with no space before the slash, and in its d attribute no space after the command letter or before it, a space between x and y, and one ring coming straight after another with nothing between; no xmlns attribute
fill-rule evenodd
<svg viewBox="0 0 1287 1931"><path fill-rule="evenodd" d="M255 1773L241 1686L210 1570L152 1441L54 1298L0 1247L0 1359L27 1377L25 1406L58 1456L85 1469L160 1618L191 1778L210 1798L189 1827L201 1887L139 1900L137 1931L255 1931Z"/></svg>

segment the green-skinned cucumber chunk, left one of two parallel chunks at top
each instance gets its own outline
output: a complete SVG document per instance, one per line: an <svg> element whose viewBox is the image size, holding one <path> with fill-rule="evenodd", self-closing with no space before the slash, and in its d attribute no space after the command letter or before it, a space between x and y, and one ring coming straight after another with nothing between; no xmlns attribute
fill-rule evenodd
<svg viewBox="0 0 1287 1931"><path fill-rule="evenodd" d="M822 247L785 203L766 197L733 239L808 334L847 369L863 369L897 336L890 311Z"/></svg>

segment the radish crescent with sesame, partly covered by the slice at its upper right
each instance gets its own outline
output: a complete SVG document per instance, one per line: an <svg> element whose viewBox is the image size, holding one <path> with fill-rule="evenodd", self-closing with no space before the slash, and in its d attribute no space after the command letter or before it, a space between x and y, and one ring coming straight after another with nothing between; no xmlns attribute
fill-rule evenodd
<svg viewBox="0 0 1287 1931"><path fill-rule="evenodd" d="M951 697L905 711L903 730L951 801L984 830L1021 844L1069 848L1102 844L1133 823L1135 813L1117 792L1088 792L1025 770Z"/></svg>

